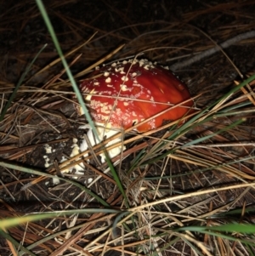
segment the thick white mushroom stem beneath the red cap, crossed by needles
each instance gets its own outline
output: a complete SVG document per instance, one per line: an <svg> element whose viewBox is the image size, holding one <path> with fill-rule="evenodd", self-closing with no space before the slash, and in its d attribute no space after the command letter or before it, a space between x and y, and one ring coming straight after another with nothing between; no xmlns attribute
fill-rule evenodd
<svg viewBox="0 0 255 256"><path fill-rule="evenodd" d="M105 125L103 123L99 123L99 122L95 122L95 125L97 127L97 132L98 132L98 138L96 139L96 136L94 136L93 134L93 130L90 127L89 124L83 125L80 128L84 128L87 129L88 128L88 140L90 142L90 144L92 146L94 145L98 145L100 142L102 142L104 139L109 139L112 136L116 135L116 134L120 134L120 137L117 137L116 139L111 139L106 145L105 148L107 150L107 147L120 143L122 142L122 135L119 129L114 129L114 128L105 128ZM86 139L83 139L82 144L80 145L80 151L87 151L88 150L88 143L86 141ZM115 156L118 156L122 151L125 151L126 147L122 146L122 145L118 145L115 148L112 148L110 150L107 150L107 153L109 155L110 158L113 158ZM85 157L88 156L88 154L84 155ZM101 156L101 162L104 163L105 162L105 154L102 153L100 154Z"/></svg>

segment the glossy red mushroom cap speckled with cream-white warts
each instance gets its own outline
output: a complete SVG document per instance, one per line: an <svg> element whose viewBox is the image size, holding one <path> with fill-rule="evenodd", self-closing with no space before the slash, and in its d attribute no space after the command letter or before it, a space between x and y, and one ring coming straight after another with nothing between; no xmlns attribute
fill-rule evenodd
<svg viewBox="0 0 255 256"><path fill-rule="evenodd" d="M93 110L94 121L109 123L115 128L130 128L169 108L139 125L139 132L158 128L164 120L184 117L194 105L183 82L171 71L152 65L148 60L124 60L105 65L82 82L80 89L87 94L84 97ZM185 100L189 101L171 109Z"/></svg>

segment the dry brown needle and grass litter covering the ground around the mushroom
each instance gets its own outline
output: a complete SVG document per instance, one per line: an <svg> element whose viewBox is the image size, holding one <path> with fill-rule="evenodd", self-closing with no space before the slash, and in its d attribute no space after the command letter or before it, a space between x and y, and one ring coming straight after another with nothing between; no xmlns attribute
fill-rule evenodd
<svg viewBox="0 0 255 256"><path fill-rule="evenodd" d="M1 162L44 174L0 168L1 218L99 210L3 230L1 256L24 249L40 256L255 255L252 233L192 230L254 223L255 80L235 90L240 87L237 70L250 80L255 73L253 2L45 2L77 82L105 61L142 54L178 70L195 100L196 112L183 126L170 121L144 134L137 134L135 126L122 131L116 145L127 150L112 164L127 209L111 168L100 162L101 145L72 155L86 136L79 127L87 121L77 117L71 83L36 3L0 0L1 113L26 66L48 43L0 122ZM79 165L83 170L77 173ZM60 183L54 185L45 173L58 175ZM105 213L97 196L123 214Z"/></svg>

